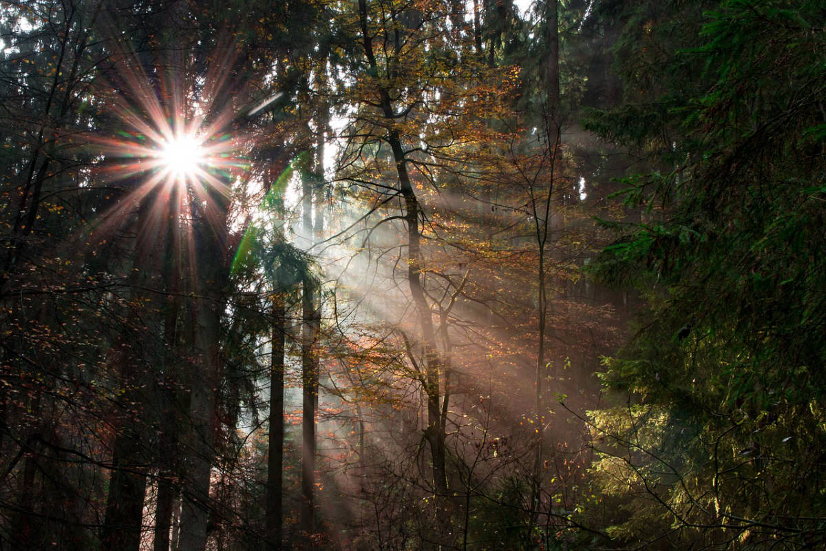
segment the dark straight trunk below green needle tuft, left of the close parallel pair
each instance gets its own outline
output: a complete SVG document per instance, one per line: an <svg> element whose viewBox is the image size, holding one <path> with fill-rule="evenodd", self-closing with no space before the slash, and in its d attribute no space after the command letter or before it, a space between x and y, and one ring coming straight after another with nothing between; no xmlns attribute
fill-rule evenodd
<svg viewBox="0 0 826 551"><path fill-rule="evenodd" d="M283 525L284 466L284 338L285 309L283 297L273 297L273 338L269 370L269 446L267 461L267 549L279 551Z"/></svg>

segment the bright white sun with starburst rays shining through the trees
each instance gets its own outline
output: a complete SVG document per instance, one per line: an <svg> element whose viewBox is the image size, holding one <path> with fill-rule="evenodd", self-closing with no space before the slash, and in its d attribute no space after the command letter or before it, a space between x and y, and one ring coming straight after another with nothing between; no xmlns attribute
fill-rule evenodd
<svg viewBox="0 0 826 551"><path fill-rule="evenodd" d="M135 64L135 55L122 53L112 82L102 82L111 94L112 132L89 136L102 178L129 183L129 200L107 216L131 216L149 198L159 216L172 211L186 220L196 216L192 207L210 209L216 193L230 197L235 182L249 174L245 152L256 138L235 103L223 99L235 85L225 78L229 59L211 65L202 85L192 88L186 72L159 69L155 78Z"/></svg>

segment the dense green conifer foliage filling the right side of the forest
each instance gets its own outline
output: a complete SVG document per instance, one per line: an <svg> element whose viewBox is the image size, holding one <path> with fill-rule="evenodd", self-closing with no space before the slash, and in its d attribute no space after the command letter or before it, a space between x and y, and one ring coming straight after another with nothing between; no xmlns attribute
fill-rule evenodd
<svg viewBox="0 0 826 551"><path fill-rule="evenodd" d="M679 9L648 7L643 50L620 59L641 101L591 120L661 169L630 180L642 221L619 226L595 269L649 303L606 362L605 387L629 401L592 413L594 477L626 509L609 533L720 549L823 544L824 7L667 3ZM681 19L700 8L700 28Z"/></svg>

